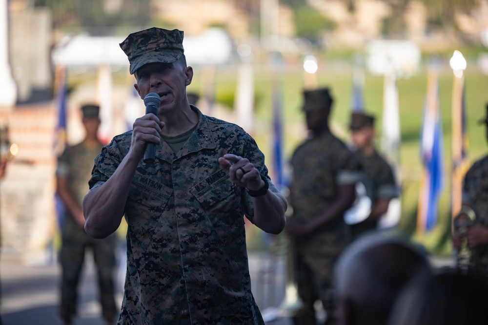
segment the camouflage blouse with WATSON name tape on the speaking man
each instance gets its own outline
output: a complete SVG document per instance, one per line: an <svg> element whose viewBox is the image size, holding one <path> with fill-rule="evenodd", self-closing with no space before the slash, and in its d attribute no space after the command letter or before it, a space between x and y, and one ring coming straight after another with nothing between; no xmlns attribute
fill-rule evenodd
<svg viewBox="0 0 488 325"><path fill-rule="evenodd" d="M175 154L162 139L157 162L141 161L132 180L119 324L264 324L245 243L244 213L252 221L252 200L218 162L233 153L267 175L264 155L239 126L192 109L200 121L183 148ZM116 136L97 157L91 187L115 172L131 135Z"/></svg>

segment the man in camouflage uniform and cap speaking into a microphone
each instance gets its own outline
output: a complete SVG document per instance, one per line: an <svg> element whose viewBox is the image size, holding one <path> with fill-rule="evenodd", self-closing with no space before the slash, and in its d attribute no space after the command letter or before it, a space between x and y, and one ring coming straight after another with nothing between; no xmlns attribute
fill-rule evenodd
<svg viewBox="0 0 488 325"><path fill-rule="evenodd" d="M135 34L122 49L136 74L139 94L148 93L144 82L150 80L150 90L163 94L158 109L162 121L168 121L168 111L184 112L189 123L175 135L163 134L166 124L161 132L155 130L161 143L156 143L153 164L142 162L138 141L152 132L152 124L144 127L154 122L151 114L137 119L133 131L114 137L95 160L91 190L83 203L88 209L85 228L97 237L113 231L117 222L100 224L104 211L114 210L118 202L122 207L113 218L117 221L123 212L128 225L118 324L264 324L251 293L244 215L265 231L278 233L285 224L285 198L267 177L264 155L249 134L203 115L188 104L184 91L178 94L183 90L181 71L189 83L190 67L183 69L181 61L167 64L174 57L165 57L164 51L159 56L152 49L164 47L168 39L168 50L179 48L183 32L151 28ZM146 51L145 60L133 56ZM183 47L177 57L182 55ZM174 101L181 105L173 106ZM107 192L111 194L105 196ZM264 227L263 215L272 227ZM278 221L283 224L275 227Z"/></svg>

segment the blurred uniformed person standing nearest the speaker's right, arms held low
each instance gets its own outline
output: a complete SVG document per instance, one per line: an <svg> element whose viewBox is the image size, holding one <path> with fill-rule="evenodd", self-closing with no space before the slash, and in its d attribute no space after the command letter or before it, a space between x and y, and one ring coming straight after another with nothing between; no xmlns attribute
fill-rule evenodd
<svg viewBox="0 0 488 325"><path fill-rule="evenodd" d="M289 203L293 214L285 230L291 237L298 294L303 307L297 325L317 324L314 303L320 300L334 324L333 266L349 243L344 212L354 201L359 163L329 129L333 99L328 88L305 91L303 111L310 137L293 153Z"/></svg>

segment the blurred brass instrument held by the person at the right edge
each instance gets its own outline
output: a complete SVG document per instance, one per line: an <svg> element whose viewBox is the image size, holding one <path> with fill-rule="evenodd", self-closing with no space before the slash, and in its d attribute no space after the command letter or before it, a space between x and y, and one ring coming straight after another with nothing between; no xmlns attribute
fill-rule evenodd
<svg viewBox="0 0 488 325"><path fill-rule="evenodd" d="M477 248L469 248L466 233L469 227L476 223L476 214L468 206L463 206L454 217L454 232L459 234L462 240L461 248L456 252L456 269L461 273L479 273L479 252Z"/></svg>

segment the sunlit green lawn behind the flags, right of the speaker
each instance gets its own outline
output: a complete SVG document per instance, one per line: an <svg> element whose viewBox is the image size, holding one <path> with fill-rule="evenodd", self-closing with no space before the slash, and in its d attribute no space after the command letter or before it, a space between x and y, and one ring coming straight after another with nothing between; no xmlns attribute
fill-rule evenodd
<svg viewBox="0 0 488 325"><path fill-rule="evenodd" d="M290 158L294 149L303 141L305 136L304 116L300 111L302 92L304 87L302 69L296 62L285 65L282 72L281 87L283 90L283 119L285 159ZM324 64L325 63L325 64ZM447 65L447 62L445 62ZM469 64L469 63L468 63ZM469 66L468 66L469 67ZM193 81L193 89L201 89L199 76ZM271 72L266 66L260 66L255 74L255 137L261 150L266 155L267 165L271 166ZM488 76L482 75L473 64L466 71L466 107L468 128L468 156L470 161L478 159L488 150L484 135L484 128L477 124L477 120L486 114L485 103L488 102ZM337 134L348 141L347 123L350 115L350 96L352 75L351 67L345 63L321 62L317 78L318 87L330 87L335 98L331 115L331 123ZM366 111L376 115L378 138L381 135L383 110L383 77L366 73L364 98ZM450 141L451 141L451 101L452 101L452 71L445 67L439 75L439 96L444 131L444 152L446 175L450 175ZM217 70L216 98L223 103L231 102L236 89L236 73L232 70ZM445 191L439 204L438 224L431 232L421 236L415 233L418 192L420 183L421 164L419 160L419 134L422 120L422 110L427 91L427 69L408 78L397 81L401 123L401 172L402 172L402 219L398 229L413 239L423 242L427 249L435 254L450 253L450 212L449 212L449 179L446 179ZM230 109L230 108L229 108ZM256 234L251 236L259 238ZM252 247L259 245L251 244Z"/></svg>

